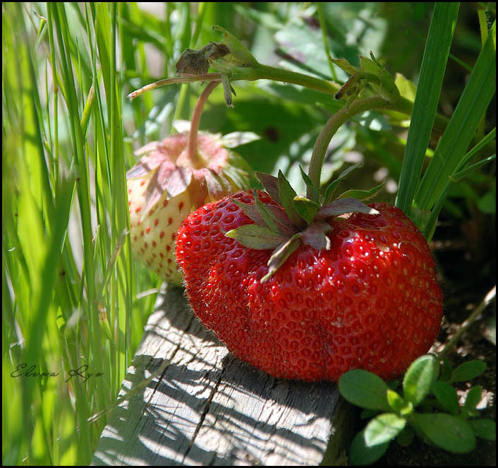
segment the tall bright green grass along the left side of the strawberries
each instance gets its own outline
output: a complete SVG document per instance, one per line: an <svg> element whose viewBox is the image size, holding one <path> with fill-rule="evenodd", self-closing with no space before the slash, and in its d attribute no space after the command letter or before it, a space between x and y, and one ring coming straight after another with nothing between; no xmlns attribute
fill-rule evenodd
<svg viewBox="0 0 498 468"><path fill-rule="evenodd" d="M2 9L3 461L87 464L105 423L88 420L116 399L152 310L154 294L137 292L159 286L130 258L123 131L126 83L149 75L143 42L123 30L152 15L116 3ZM166 72L195 32L189 4L178 13L183 27L157 38Z"/></svg>

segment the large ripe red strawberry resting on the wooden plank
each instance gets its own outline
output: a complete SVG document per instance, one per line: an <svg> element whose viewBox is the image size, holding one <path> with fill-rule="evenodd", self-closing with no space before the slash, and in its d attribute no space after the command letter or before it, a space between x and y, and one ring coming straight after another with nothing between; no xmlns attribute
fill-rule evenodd
<svg viewBox="0 0 498 468"><path fill-rule="evenodd" d="M307 217L302 198L284 212L289 197L271 186L278 204L241 191L183 222L176 260L195 314L233 354L272 376L336 381L353 368L399 376L427 352L442 319L441 287L418 228L383 203L332 217L354 211L357 201L344 198L296 228L294 208ZM268 228L280 224L280 234L255 228L260 218Z"/></svg>

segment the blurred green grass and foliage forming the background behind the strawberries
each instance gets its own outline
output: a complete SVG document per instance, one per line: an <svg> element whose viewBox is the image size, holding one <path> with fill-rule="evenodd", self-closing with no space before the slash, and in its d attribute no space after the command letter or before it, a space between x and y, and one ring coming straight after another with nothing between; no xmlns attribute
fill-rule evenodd
<svg viewBox="0 0 498 468"><path fill-rule="evenodd" d="M415 86L432 2L168 2L2 4L2 425L4 464L87 464L162 282L130 256L125 172L133 151L189 119L202 85L171 85L133 102L128 92L174 76L178 56L220 36L220 25L264 64L344 83L327 59L372 51ZM462 3L438 111L450 116L482 47L494 4ZM281 169L303 192L322 126L341 103L297 85L237 82L221 89L200 128L253 131L238 148L253 169ZM221 88L221 87L220 87ZM413 88L414 90L414 88ZM495 126L495 98L477 129ZM394 202L406 117L368 112L334 136L324 179L363 162L351 184L385 181ZM435 141L427 151L430 157ZM455 185L442 211L494 278L494 162ZM68 376L13 377L19 364Z"/></svg>

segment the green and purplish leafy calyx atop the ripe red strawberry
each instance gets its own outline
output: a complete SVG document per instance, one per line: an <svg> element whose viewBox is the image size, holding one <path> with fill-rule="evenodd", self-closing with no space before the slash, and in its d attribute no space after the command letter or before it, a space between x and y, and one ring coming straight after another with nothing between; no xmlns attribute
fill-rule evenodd
<svg viewBox="0 0 498 468"><path fill-rule="evenodd" d="M331 243L327 232L332 229L330 220L333 217L353 212L379 215L377 210L357 198L337 198L320 205L298 196L282 172L278 178L262 173L256 175L269 195L267 201L262 202L257 191L253 192L255 203L233 200L255 224L244 224L225 235L248 248L273 250L267 262L268 272L261 282L269 280L300 245L328 251ZM358 193L363 194L362 191Z"/></svg>

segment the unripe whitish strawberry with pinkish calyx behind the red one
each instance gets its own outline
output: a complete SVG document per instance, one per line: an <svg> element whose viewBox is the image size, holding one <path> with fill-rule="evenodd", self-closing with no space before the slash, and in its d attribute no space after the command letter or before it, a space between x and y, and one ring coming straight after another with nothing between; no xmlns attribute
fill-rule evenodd
<svg viewBox="0 0 498 468"><path fill-rule="evenodd" d="M181 284L175 241L181 223L206 203L248 188L253 173L219 135L198 133L196 157L188 133L148 143L126 174L134 255L168 282Z"/></svg>

